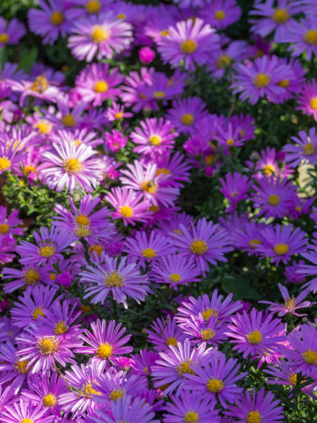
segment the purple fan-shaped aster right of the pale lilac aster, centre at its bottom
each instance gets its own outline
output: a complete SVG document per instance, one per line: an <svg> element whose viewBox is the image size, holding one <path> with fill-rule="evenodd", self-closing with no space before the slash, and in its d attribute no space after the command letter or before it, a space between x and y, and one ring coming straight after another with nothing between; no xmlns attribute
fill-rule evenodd
<svg viewBox="0 0 317 423"><path fill-rule="evenodd" d="M167 283L177 290L177 285L199 282L199 275L200 270L193 261L172 254L160 257L157 262L153 263L148 277L155 283Z"/></svg>

